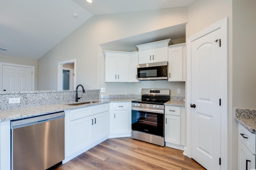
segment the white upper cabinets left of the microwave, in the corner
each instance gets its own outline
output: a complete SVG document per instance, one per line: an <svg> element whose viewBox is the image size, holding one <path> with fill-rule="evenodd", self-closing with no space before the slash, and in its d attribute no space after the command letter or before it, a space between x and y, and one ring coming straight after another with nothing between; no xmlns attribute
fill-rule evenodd
<svg viewBox="0 0 256 170"><path fill-rule="evenodd" d="M105 82L138 82L138 52L106 51Z"/></svg>

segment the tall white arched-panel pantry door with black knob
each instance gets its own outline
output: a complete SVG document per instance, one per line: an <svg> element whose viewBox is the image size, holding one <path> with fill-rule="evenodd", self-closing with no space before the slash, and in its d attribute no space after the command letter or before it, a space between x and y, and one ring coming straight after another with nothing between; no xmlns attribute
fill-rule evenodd
<svg viewBox="0 0 256 170"><path fill-rule="evenodd" d="M208 170L220 169L221 36L217 29L191 43L191 157Z"/></svg>

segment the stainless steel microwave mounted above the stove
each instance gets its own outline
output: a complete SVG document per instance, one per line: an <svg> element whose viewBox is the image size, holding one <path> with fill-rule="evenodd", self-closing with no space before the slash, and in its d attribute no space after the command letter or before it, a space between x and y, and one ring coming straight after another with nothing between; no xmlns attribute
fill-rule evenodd
<svg viewBox="0 0 256 170"><path fill-rule="evenodd" d="M168 62L137 65L138 80L167 80Z"/></svg>

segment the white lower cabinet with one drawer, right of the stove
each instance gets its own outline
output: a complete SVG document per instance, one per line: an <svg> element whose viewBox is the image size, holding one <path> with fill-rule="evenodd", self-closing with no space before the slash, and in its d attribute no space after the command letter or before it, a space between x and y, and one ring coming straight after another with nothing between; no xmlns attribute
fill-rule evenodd
<svg viewBox="0 0 256 170"><path fill-rule="evenodd" d="M167 147L184 150L185 108L165 106L164 141Z"/></svg>

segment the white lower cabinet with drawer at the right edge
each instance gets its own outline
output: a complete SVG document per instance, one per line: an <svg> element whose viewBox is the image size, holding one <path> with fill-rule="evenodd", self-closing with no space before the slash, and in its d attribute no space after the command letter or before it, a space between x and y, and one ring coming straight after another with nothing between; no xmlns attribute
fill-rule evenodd
<svg viewBox="0 0 256 170"><path fill-rule="evenodd" d="M255 169L255 133L238 124L238 170Z"/></svg>

